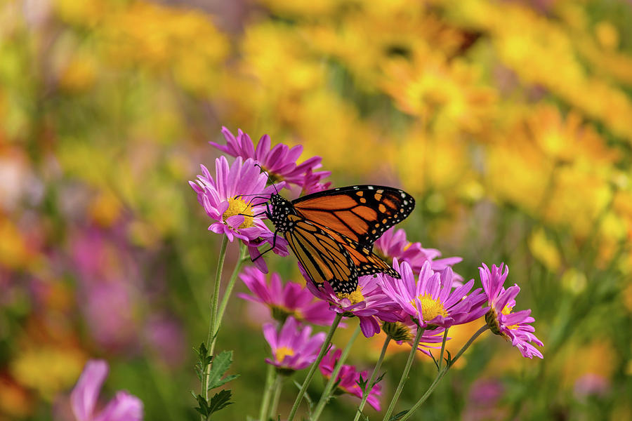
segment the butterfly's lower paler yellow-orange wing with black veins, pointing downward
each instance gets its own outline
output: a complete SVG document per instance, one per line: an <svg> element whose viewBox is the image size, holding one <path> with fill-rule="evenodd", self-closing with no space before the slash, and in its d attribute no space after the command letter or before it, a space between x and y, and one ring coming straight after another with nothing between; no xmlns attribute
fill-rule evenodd
<svg viewBox="0 0 632 421"><path fill-rule="evenodd" d="M287 218L292 228L283 235L312 281L327 281L336 293L355 291L357 267L343 243L298 215Z"/></svg>

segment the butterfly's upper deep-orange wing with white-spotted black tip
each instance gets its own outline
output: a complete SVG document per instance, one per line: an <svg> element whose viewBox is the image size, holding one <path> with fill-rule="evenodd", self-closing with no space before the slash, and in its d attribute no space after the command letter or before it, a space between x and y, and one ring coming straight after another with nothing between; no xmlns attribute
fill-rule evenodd
<svg viewBox="0 0 632 421"><path fill-rule="evenodd" d="M393 187L359 185L308 194L292 204L305 220L371 246L410 215L415 199Z"/></svg>

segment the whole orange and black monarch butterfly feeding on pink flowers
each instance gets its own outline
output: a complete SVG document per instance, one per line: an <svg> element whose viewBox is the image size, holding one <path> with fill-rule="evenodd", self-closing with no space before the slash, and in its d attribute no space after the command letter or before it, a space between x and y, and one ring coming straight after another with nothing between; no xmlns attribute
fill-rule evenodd
<svg viewBox="0 0 632 421"><path fill-rule="evenodd" d="M400 278L371 249L414 209L415 200L403 190L358 185L293 201L272 194L267 206L265 215L275 225L273 243L277 232L282 234L315 283L327 281L336 293L352 293L358 276L383 272Z"/></svg>

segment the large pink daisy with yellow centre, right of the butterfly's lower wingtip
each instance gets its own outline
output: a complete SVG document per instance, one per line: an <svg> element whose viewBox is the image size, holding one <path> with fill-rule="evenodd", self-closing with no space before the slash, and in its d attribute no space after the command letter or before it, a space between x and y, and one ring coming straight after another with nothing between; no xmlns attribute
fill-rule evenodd
<svg viewBox="0 0 632 421"><path fill-rule="evenodd" d="M449 328L455 324L478 319L487 311L481 307L485 302L485 295L481 293L480 288L468 295L474 285L473 279L465 285L452 288L453 277L450 267L442 272L434 272L430 268L430 262L426 261L421 267L418 281L415 281L412 268L407 262L400 265L395 259L393 268L400 272L402 278L393 279L378 274L382 289L422 328Z"/></svg>

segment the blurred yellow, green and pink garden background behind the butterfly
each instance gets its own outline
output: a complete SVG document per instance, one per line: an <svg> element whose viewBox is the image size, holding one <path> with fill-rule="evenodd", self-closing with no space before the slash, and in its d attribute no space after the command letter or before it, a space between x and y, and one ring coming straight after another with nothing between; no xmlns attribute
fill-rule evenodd
<svg viewBox="0 0 632 421"><path fill-rule="evenodd" d="M632 419L631 22L624 0L1 1L0 420L72 420L89 358L110 363L106 399L197 419L220 237L187 180L221 126L303 145L336 186L406 189L409 240L466 279L509 265L544 360L486 334L419 419ZM241 377L218 419L257 414L262 318L232 298L218 349ZM389 352L388 399L405 359ZM419 361L400 408L433 378Z"/></svg>

